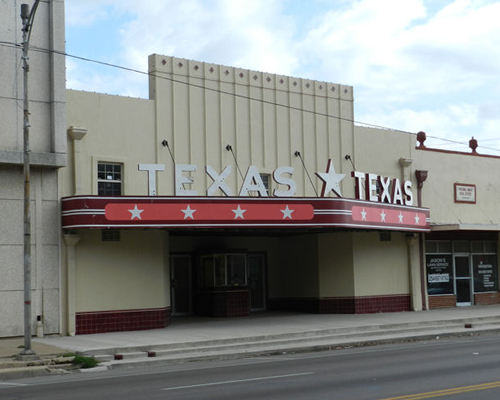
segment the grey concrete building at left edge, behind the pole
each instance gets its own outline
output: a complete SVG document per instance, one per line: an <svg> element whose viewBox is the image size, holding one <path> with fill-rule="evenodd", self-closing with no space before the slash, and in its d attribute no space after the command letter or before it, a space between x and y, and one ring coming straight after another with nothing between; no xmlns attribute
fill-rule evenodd
<svg viewBox="0 0 500 400"><path fill-rule="evenodd" d="M23 68L21 3L0 0L0 336L24 332ZM60 332L60 209L57 169L66 165L64 3L40 2L29 52L32 315ZM34 330L33 330L34 332Z"/></svg>

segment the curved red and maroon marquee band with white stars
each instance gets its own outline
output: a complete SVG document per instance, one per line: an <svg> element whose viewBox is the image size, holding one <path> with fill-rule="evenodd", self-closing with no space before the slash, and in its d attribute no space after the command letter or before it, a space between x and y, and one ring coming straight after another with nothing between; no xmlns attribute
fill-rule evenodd
<svg viewBox="0 0 500 400"><path fill-rule="evenodd" d="M73 196L62 228L357 228L428 232L429 210L343 198Z"/></svg>

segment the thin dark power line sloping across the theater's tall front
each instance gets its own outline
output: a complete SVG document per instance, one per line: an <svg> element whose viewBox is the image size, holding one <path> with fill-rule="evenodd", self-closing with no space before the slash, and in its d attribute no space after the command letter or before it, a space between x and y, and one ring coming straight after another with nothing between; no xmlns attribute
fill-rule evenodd
<svg viewBox="0 0 500 400"><path fill-rule="evenodd" d="M4 42L4 41L0 41L0 46L20 48L19 44L12 43L12 42ZM151 77L158 78L158 79L165 79L165 80L171 81L173 83L179 83L179 84L183 84L183 85L186 85L186 86L191 86L191 87L195 87L195 88L199 88L199 89L203 89L203 90L209 90L209 91L216 92L216 93L219 93L219 94L226 94L226 95L229 95L229 96L234 96L234 97L242 98L242 99L245 99L245 100L257 101L257 102L261 102L263 104L269 104L269 105L273 105L273 106L276 106L276 107L285 107L285 108L288 108L288 109L291 109L291 110L295 110L295 111L307 112L307 113L311 113L311 114L317 115L317 116L322 116L322 117L326 117L326 118L337 119L339 121L352 122L352 123L356 123L356 124L359 124L359 125L362 125L362 126L371 127L371 128L377 128L377 129L383 129L383 130L387 130L387 131L391 131L391 132L403 133L403 134L406 134L406 135L416 135L416 133L414 133L414 132L408 132L408 131L403 131L403 130L400 130L400 129L389 128L389 127L386 127L386 126L372 124L372 123L368 123L368 122L356 121L354 119L349 119L349 118L337 117L337 116L334 116L334 115L325 114L325 113L321 113L321 112L314 111L314 110L307 110L307 109L304 109L304 108L290 106L290 105L287 105L287 104L280 104L280 103L276 103L276 102L273 102L273 101L270 101L270 100L257 99L257 98L253 98L253 97L250 97L250 96L238 94L238 93L231 93L231 92L228 92L228 91L225 91L225 90L222 90L222 89L210 88L210 87L207 87L207 86L204 86L204 85L198 85L198 84L195 84L195 83L192 83L192 82L186 82L186 81L183 81L183 80L177 80L177 79L175 79L173 77L169 77L169 76L166 76L166 75L163 75L163 74L162 75L153 74L151 72L146 72L146 71L142 71L142 70L135 69L135 68L125 67L125 66L119 65L119 64L114 64L114 63L110 63L110 62L106 62L106 61L100 61L100 60L95 60L95 59L88 58L88 57L83 57L83 56L77 56L77 55L74 55L74 54L69 54L69 53L66 53L64 51L44 49L44 48L36 47L36 46L33 46L31 49L33 51L38 51L38 52L47 53L47 54L55 53L55 54L58 54L58 55L61 55L61 56L65 56L65 57L69 57L69 58L74 58L76 60L91 62L91 63L94 63L94 64L103 65L103 66L110 67L110 68L116 68L116 69L120 69L120 70L123 70L123 71L134 72L134 73L137 73L137 74L141 74L141 75L145 75L145 76L151 76ZM175 76L176 74L172 73L172 75ZM207 81L207 80L208 81L217 81L215 79L209 79L209 78L203 78L203 79L205 81ZM238 83L236 83L236 82L234 82L234 84L238 85ZM315 97L327 98L326 96L321 96L321 95L320 96L315 96ZM468 145L467 142L460 142L460 141L456 141L456 140L452 140L452 139L442 138L442 137L439 137L439 136L430 136L430 135L427 135L427 137L430 138L430 139L443 140L443 141L446 141L446 142L449 142L449 143L454 143L454 144ZM487 146L478 146L478 147L483 148L483 149L487 149L487 150L493 150L493 151L499 151L500 152L500 149L496 149L496 148L493 148L493 147L487 147Z"/></svg>

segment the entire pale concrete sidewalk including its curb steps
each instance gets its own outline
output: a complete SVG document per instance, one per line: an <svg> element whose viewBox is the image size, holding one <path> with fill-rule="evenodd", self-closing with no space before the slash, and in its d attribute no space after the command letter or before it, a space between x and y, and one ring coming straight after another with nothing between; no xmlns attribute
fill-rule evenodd
<svg viewBox="0 0 500 400"><path fill-rule="evenodd" d="M500 333L500 305L358 315L265 312L241 318L179 317L164 329L33 338L33 349L45 356L95 355L115 368L485 332ZM23 338L0 339L0 357L18 354L22 343Z"/></svg>

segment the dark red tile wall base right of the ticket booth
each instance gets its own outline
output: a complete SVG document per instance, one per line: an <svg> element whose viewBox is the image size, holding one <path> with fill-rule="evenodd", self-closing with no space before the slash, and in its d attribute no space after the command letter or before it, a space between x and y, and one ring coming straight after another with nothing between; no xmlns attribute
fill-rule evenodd
<svg viewBox="0 0 500 400"><path fill-rule="evenodd" d="M410 295L280 298L270 299L269 309L316 314L368 314L410 311Z"/></svg>

